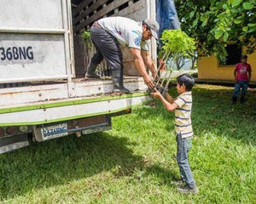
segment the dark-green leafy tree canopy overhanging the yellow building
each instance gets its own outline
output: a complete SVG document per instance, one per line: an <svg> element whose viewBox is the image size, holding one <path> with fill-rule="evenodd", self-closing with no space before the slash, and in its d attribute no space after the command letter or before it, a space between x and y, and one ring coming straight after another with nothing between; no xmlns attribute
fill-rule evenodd
<svg viewBox="0 0 256 204"><path fill-rule="evenodd" d="M247 54L256 49L255 0L176 0L181 26L194 37L200 55L217 55L224 60L227 42L247 47Z"/></svg>

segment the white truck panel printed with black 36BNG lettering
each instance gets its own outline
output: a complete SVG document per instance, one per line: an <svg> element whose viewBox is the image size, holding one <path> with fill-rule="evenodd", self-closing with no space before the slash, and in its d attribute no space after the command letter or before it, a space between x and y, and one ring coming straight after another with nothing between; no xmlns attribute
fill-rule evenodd
<svg viewBox="0 0 256 204"><path fill-rule="evenodd" d="M65 76L64 51L63 35L0 33L0 82Z"/></svg>

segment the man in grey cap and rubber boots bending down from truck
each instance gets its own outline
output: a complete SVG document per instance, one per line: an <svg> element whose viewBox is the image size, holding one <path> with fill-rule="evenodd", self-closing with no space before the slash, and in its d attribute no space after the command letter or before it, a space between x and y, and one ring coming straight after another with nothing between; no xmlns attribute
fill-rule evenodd
<svg viewBox="0 0 256 204"><path fill-rule="evenodd" d="M148 76L145 69L157 75L154 69L153 60L148 51L148 40L151 37L157 39L159 25L155 20L147 19L137 22L124 17L108 17L97 20L90 28L90 37L96 47L96 54L90 60L85 77L96 77L96 66L106 59L111 70L113 80L113 92L129 93L123 85L123 55L119 44L128 46L134 57L137 70L143 76L144 82L149 88L154 88L152 78Z"/></svg>

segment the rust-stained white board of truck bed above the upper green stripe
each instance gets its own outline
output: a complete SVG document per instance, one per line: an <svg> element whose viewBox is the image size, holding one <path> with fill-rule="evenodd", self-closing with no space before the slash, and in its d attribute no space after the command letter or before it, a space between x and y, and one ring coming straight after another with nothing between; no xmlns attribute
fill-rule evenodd
<svg viewBox="0 0 256 204"><path fill-rule="evenodd" d="M136 90L145 90L147 86L143 82L143 78L125 78L125 87L131 92ZM58 99L69 99L69 94L73 94L73 98L94 97L96 95L109 94L113 91L113 83L111 80L87 80L83 82L56 83L48 85L38 85L30 87L18 88L0 88L0 105L1 109L14 106L27 106L32 103L53 102ZM71 90L70 90L71 89ZM0 111L1 112L1 111Z"/></svg>

